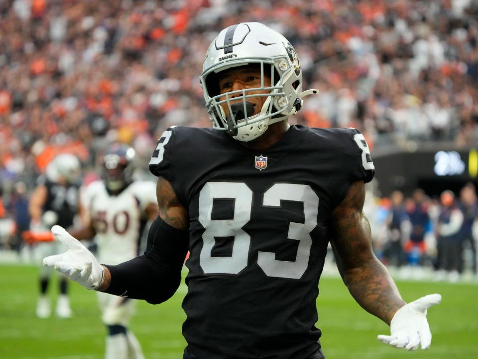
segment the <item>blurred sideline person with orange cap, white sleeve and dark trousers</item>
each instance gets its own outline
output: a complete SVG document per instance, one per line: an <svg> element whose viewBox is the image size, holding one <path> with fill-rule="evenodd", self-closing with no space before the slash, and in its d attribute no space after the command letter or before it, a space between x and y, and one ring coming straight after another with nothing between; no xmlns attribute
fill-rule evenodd
<svg viewBox="0 0 478 359"><path fill-rule="evenodd" d="M463 224L463 213L458 208L455 194L445 190L440 195L442 209L438 218L438 273L437 280L445 279L457 282L460 279L461 240L460 229Z"/></svg>

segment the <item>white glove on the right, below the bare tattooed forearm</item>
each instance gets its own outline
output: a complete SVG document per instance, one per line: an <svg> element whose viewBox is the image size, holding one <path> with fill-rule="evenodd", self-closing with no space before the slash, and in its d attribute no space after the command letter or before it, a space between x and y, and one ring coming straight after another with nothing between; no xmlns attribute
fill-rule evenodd
<svg viewBox="0 0 478 359"><path fill-rule="evenodd" d="M440 294L429 294L410 302L400 308L390 323L390 335L379 335L377 338L384 344L409 351L430 348L432 333L427 322L427 309L442 301Z"/></svg>

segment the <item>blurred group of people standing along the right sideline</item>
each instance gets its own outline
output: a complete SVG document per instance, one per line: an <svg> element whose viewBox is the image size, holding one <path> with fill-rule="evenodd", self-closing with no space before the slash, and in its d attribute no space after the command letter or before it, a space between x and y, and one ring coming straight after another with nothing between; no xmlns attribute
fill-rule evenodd
<svg viewBox="0 0 478 359"><path fill-rule="evenodd" d="M457 282L477 279L478 200L473 183L458 195L445 190L428 196L417 188L410 196L368 197L367 214L376 256L403 279Z"/></svg>

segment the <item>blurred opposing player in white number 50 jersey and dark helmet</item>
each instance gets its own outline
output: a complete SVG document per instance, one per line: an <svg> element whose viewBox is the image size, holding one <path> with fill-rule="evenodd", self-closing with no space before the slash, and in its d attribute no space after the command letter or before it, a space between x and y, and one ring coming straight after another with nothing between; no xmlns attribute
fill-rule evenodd
<svg viewBox="0 0 478 359"><path fill-rule="evenodd" d="M158 213L156 184L132 180L133 158L131 147L114 144L103 159L103 180L90 183L82 195L87 225L71 233L79 239L95 237L100 263L118 264L136 257L145 224ZM135 301L100 292L98 300L108 329L105 358L144 358L136 337L127 330Z"/></svg>

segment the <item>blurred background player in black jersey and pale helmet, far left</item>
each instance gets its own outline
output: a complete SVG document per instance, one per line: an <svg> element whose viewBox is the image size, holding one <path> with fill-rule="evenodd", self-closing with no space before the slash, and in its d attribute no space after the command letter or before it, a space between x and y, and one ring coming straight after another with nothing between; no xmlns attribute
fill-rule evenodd
<svg viewBox="0 0 478 359"><path fill-rule="evenodd" d="M30 235L41 236L55 225L70 227L78 211L78 180L80 179L80 161L71 154L56 156L47 166L46 173L38 179L38 185L30 197L29 213L31 217ZM48 233L48 232L47 232ZM39 256L52 255L64 250L58 242L36 244ZM50 300L47 296L51 268L40 268L40 298L36 307L39 318L50 316ZM60 318L71 317L68 300L68 279L60 278L60 295L56 302L56 315Z"/></svg>

